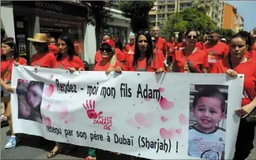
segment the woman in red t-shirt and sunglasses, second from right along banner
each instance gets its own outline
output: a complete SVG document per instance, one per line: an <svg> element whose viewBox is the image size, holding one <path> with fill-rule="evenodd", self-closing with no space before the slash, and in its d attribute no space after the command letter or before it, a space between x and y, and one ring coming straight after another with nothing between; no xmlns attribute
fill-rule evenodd
<svg viewBox="0 0 256 160"><path fill-rule="evenodd" d="M208 59L204 50L195 45L198 41L198 32L194 29L185 33L186 46L177 50L173 57L172 72L174 73L207 73Z"/></svg>

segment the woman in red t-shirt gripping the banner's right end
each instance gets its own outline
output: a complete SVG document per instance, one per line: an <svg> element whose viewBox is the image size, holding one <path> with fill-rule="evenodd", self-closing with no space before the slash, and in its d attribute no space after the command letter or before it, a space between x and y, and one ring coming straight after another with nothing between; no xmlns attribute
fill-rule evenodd
<svg viewBox="0 0 256 160"><path fill-rule="evenodd" d="M245 56L250 51L252 40L250 33L239 32L232 36L229 45L228 58L217 61L213 65L213 73L228 73L236 77L244 74L242 107L235 113L242 117L239 125L239 133L235 144L235 156L233 160L244 160L254 148L254 123L249 122L248 117L256 116L256 61ZM251 114L250 114L251 113ZM248 115L248 117L247 117Z"/></svg>

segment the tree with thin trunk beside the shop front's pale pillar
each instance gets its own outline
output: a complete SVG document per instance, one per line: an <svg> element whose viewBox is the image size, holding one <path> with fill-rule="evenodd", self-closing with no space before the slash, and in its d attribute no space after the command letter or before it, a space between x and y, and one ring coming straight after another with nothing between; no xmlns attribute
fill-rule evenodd
<svg viewBox="0 0 256 160"><path fill-rule="evenodd" d="M98 50L102 28L113 20L107 8L111 8L114 3L111 1L81 1L81 3L88 6L88 24L95 27L96 49Z"/></svg>

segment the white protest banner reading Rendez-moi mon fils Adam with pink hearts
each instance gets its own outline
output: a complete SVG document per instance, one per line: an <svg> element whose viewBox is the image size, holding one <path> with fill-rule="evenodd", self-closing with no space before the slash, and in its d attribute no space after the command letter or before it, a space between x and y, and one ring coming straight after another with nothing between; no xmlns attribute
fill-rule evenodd
<svg viewBox="0 0 256 160"><path fill-rule="evenodd" d="M13 130L150 159L232 159L243 75L13 67Z"/></svg>

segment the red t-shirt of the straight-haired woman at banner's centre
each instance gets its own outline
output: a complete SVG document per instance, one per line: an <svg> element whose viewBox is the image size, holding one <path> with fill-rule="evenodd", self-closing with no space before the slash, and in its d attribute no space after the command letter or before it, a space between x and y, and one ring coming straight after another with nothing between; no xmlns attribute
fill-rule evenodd
<svg viewBox="0 0 256 160"><path fill-rule="evenodd" d="M160 60L159 57L156 57L152 59L151 64L146 69L147 64L147 58L143 58L141 60L137 61L137 68L135 69L133 66L134 58L130 58L128 61L128 70L129 71L145 71L145 72L156 72L157 69L163 68L164 69L164 63Z"/></svg>

